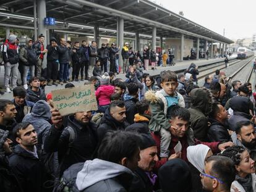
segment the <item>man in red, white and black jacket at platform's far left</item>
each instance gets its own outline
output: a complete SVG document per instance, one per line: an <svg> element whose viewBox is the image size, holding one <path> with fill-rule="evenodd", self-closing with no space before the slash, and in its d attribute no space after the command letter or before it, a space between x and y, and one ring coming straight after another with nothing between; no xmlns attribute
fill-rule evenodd
<svg viewBox="0 0 256 192"><path fill-rule="evenodd" d="M12 88L17 86L19 67L19 48L16 44L17 36L11 34L1 46L2 59L4 60L4 87L11 93L9 80L12 78ZM12 76L11 76L12 75Z"/></svg>

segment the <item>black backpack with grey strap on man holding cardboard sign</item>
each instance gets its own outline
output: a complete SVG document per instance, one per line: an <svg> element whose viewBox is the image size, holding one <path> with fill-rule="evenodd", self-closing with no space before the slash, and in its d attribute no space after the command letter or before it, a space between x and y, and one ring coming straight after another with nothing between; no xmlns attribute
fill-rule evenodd
<svg viewBox="0 0 256 192"><path fill-rule="evenodd" d="M72 127L66 127L64 130L69 131L69 145L66 151L66 154L64 154L63 159L61 162L58 162L58 152L43 152L42 154L42 159L43 159L43 164L45 165L45 170L46 172L51 175L51 180L54 181L54 183L58 183L59 181L59 169L61 165L64 163L64 160L66 156L69 155L70 149L72 148L72 144L74 143L75 140L75 131ZM63 131L64 131L63 130ZM58 167L58 169L56 169Z"/></svg>

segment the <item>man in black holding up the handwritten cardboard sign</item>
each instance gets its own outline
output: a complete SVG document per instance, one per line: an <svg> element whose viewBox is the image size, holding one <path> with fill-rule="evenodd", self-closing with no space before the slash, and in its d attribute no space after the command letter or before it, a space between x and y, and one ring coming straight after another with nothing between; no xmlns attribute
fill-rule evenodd
<svg viewBox="0 0 256 192"><path fill-rule="evenodd" d="M58 151L60 175L70 165L92 159L98 144L96 125L90 122L92 112L82 111L69 115L67 127L74 131L74 141L70 143L70 131L64 127L63 117L57 109L52 109L53 126L45 138L46 152Z"/></svg>

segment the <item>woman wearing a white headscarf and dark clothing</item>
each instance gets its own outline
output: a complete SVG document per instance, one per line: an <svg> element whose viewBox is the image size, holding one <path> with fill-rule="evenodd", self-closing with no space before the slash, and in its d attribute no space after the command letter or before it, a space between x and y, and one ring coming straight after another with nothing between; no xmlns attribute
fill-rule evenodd
<svg viewBox="0 0 256 192"><path fill-rule="evenodd" d="M187 148L187 159L192 173L192 191L203 191L200 173L205 167L205 158L212 156L211 149L205 144L197 144Z"/></svg>

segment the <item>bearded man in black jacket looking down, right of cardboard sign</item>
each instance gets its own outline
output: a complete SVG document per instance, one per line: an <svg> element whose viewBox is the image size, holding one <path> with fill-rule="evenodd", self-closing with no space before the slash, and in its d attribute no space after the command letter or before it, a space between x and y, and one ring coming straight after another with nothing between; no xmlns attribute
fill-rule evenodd
<svg viewBox="0 0 256 192"><path fill-rule="evenodd" d="M98 138L101 141L110 130L124 130L129 123L126 121L126 107L124 101L113 101L109 104L98 127Z"/></svg>

